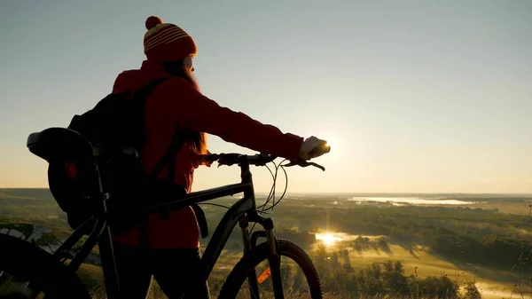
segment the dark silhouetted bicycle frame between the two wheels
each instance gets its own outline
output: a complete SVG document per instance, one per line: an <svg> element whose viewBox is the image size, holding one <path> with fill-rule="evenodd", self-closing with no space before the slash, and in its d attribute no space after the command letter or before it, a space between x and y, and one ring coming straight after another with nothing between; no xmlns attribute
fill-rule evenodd
<svg viewBox="0 0 532 299"><path fill-rule="evenodd" d="M180 209L194 203L210 201L216 198L234 195L237 193L244 193L244 196L231 206L231 208L223 216L220 223L217 224L215 232L207 244L207 248L201 257L201 281L207 281L208 276L213 270L218 257L222 253L223 247L231 236L231 232L238 223L242 232L242 240L244 241L244 255L246 255L246 252L251 250L252 241L247 226L249 222L254 222L261 224L266 231L266 239L270 243L271 248L269 257L270 263L275 263L272 264L274 268L273 270L276 272L275 274L272 273L274 274L272 275L274 282L274 293L276 294L276 298L278 298L278 295L282 297L283 295L280 277L278 277L277 271L275 271L278 270L278 267L276 267L276 265L278 266L278 250L273 232L273 221L269 217L262 217L256 211L254 185L252 174L249 169L249 163L247 161L243 161L239 164L239 167L241 169L241 182L239 184L225 185L200 192L189 193L176 201L153 206L145 209L145 211L147 213L154 213L163 210L168 211L172 209ZM74 256L67 267L72 271L77 271L82 262L87 258L87 256L89 256L92 248L94 248L98 243L107 297L109 299L115 299L118 298L118 292L120 290L120 285L118 283L118 275L120 275L120 273L117 272L116 266L114 264L113 242L111 240L111 231L106 220L109 216L106 211L106 201L108 200L108 196L102 197L101 211L98 213L98 215L87 220L84 224L78 227L59 246L53 255L60 258L61 253L74 247L74 245L82 239L83 231L86 231L87 228L92 226L93 229L88 239L82 244L82 248ZM256 239L254 239L254 241L255 240ZM250 274L248 279L251 280L250 286L252 286L252 291L256 290L256 277Z"/></svg>

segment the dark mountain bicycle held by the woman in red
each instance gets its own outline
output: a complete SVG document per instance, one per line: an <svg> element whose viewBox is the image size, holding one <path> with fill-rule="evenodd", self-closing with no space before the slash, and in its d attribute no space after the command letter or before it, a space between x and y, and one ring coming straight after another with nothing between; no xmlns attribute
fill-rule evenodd
<svg viewBox="0 0 532 299"><path fill-rule="evenodd" d="M61 136L61 138L57 138L58 136ZM65 136L70 136L70 138L77 141L70 142ZM90 149L90 151L84 153L94 154L89 141L87 141L87 144L80 144L78 142L80 138L82 136L73 130L51 128L31 134L27 139L27 147L30 152L45 160L68 151L83 152ZM84 140L86 141L86 139ZM176 201L145 209L146 213L168 211L237 193L244 193L244 196L228 209L219 224L217 224L215 232L201 257L202 281L206 281L229 240L231 232L239 224L243 240L243 256L223 283L218 298L235 298L245 280L247 280L248 284L245 291L248 291L252 298L259 298L258 285L263 282L259 280L263 280L264 276L271 278L270 285L273 286L275 298L284 298L283 281L280 275L281 256L283 256L283 259L292 259L301 268L308 284L308 294L311 298L317 299L323 296L317 270L309 256L295 243L276 238L273 219L261 215L264 211L273 209L280 200L277 203L274 200L271 207L265 208L270 200L269 196L262 206L257 207L250 166L267 166L266 164L273 162L276 158L266 154L221 153L206 155L205 159L207 161L217 161L219 166L238 165L240 168L240 183L188 193ZM324 167L309 161L289 161L286 165L281 166L281 163L279 163L279 166L276 167L277 169L282 167L284 170L284 167L296 165L301 167L315 166L325 171ZM277 179L277 169L273 188L275 188L275 180ZM4 254L0 255L0 273L2 270L7 269L8 271L14 271L23 279L29 279L24 280L30 281L25 287L32 289L32 295L37 295L38 292L43 291L47 297L51 295L57 298L89 299L88 290L74 273L80 268L82 262L90 255L92 248L98 243L107 298L118 298L120 290L118 275L120 273L116 271L114 265L111 231L107 224L107 219L110 215L108 215L106 210L106 202L111 199L112 195L110 196L101 189L100 185L98 190L100 196L97 199L100 201L99 209L95 211L89 220L75 229L53 254L49 254L24 240L0 234L0 243L3 244L2 251L4 251ZM285 193L283 193L283 196ZM262 210L259 210L261 208ZM260 224L263 230L250 233L248 229L250 223ZM82 239L83 232L86 232L90 227L92 227L92 230L87 240L71 258L70 263L64 264L66 260L65 252L71 252L74 245ZM266 241L259 244L257 243L259 238L265 238ZM269 267L257 279L255 267L263 261L267 261Z"/></svg>

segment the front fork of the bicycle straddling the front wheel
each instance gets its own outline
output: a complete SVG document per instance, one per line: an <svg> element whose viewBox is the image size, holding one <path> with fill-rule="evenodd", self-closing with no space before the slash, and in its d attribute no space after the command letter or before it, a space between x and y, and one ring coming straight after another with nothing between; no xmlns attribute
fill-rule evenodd
<svg viewBox="0 0 532 299"><path fill-rule="evenodd" d="M259 237L265 237L268 245L269 255L268 262L270 264L270 278L273 285L273 293L276 299L284 299L283 294L283 282L281 279L280 271L280 251L278 248L277 239L275 238L273 220L271 218L265 218L258 214L250 215L251 220L255 223L262 224L264 231L254 232L250 236L248 226L249 218L245 216L239 221L240 230L242 232L242 240L244 243L244 255L246 256L256 247L256 242ZM247 272L247 282L249 284L249 291L253 299L259 299L259 283L257 280L255 269L249 269Z"/></svg>

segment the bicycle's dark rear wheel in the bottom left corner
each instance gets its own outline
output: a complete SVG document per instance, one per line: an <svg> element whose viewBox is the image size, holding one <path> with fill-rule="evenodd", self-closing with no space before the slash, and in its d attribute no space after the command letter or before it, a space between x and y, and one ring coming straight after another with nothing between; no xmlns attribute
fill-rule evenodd
<svg viewBox="0 0 532 299"><path fill-rule="evenodd" d="M82 281L42 248L6 234L0 234L0 244L0 298L34 291L12 298L90 299Z"/></svg>

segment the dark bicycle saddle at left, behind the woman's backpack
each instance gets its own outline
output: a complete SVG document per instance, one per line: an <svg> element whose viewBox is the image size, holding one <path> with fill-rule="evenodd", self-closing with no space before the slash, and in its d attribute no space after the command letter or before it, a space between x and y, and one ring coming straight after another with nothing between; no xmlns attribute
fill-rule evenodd
<svg viewBox="0 0 532 299"><path fill-rule="evenodd" d="M31 133L26 146L31 153L46 161L93 161L97 155L89 140L66 128Z"/></svg>

